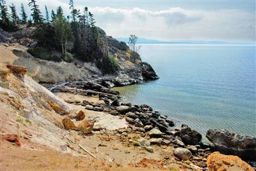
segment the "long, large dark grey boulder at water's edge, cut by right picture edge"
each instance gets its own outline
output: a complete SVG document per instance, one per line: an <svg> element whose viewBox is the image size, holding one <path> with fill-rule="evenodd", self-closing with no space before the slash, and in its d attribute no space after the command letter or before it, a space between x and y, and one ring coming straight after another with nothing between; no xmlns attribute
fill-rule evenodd
<svg viewBox="0 0 256 171"><path fill-rule="evenodd" d="M233 154L241 158L256 158L256 138L227 130L208 130L206 138L210 140L217 151L223 154Z"/></svg>

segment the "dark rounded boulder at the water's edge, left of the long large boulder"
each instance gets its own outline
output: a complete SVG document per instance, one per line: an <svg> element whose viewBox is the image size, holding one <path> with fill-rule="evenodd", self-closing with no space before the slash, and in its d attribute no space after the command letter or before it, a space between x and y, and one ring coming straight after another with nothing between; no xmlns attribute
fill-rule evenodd
<svg viewBox="0 0 256 171"><path fill-rule="evenodd" d="M189 145L198 145L202 140L202 135L200 133L192 130L186 125L182 125L179 136L184 144Z"/></svg>

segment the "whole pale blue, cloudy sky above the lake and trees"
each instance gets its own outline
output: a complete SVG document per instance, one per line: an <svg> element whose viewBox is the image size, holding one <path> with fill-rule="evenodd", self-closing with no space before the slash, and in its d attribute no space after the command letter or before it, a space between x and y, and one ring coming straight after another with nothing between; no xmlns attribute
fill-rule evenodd
<svg viewBox="0 0 256 171"><path fill-rule="evenodd" d="M7 0L20 12L28 1ZM42 13L63 7L70 14L68 1L37 0ZM255 41L255 1L253 0L74 0L75 7L87 6L96 25L114 38L136 34L139 38L164 41Z"/></svg>

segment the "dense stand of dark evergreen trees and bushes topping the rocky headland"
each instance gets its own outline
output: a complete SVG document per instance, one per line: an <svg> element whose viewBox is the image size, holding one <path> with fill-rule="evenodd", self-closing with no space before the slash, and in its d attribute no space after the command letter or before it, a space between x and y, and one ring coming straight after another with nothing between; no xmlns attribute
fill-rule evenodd
<svg viewBox="0 0 256 171"><path fill-rule="evenodd" d="M86 6L83 7L83 11L77 10L74 0L70 0L68 4L70 5L68 16L63 15L61 6L51 10L51 14L47 6L44 6L43 16L37 1L29 0L31 15L27 15L24 5L21 4L19 17L13 4L9 6L9 13L6 1L0 0L0 26L5 31L24 28L20 27L24 24L26 27L36 27L31 38L37 41L37 47L28 50L34 57L56 62L63 59L68 63L76 58L97 64L103 73L118 71L120 68L118 61L109 56L108 44L102 36L105 33L95 25L93 13ZM56 54L56 51L60 52L60 57L52 55Z"/></svg>

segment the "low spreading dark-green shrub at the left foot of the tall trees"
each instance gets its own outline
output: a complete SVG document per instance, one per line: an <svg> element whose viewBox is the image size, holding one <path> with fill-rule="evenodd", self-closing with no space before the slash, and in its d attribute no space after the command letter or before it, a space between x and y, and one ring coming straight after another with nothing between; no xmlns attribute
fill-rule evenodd
<svg viewBox="0 0 256 171"><path fill-rule="evenodd" d="M29 48L28 49L29 54L31 54L33 57L44 59L47 61L54 61L54 62L60 62L61 58L58 56L51 56L51 52L47 50L47 48L44 47L36 47L36 48Z"/></svg>

